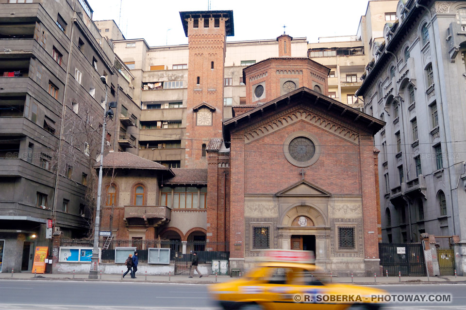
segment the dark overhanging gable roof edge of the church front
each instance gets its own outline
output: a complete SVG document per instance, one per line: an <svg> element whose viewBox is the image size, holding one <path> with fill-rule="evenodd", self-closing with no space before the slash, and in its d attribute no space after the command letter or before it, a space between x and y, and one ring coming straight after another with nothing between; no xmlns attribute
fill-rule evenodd
<svg viewBox="0 0 466 310"><path fill-rule="evenodd" d="M353 109L344 103L334 100L322 93L317 93L306 87L301 87L293 92L284 94L277 99L269 101L262 106L251 109L243 114L235 116L225 122L224 126L224 139L230 141L230 131L239 125L245 125L251 123L251 118L260 118L266 112L271 112L277 109L279 106L289 105L291 102L303 102L307 100L310 105L325 109L328 114L336 114L339 118L346 118L348 122L358 125L359 127L365 128L368 132L375 135L379 130L383 128L385 122L363 113L357 109Z"/></svg>

